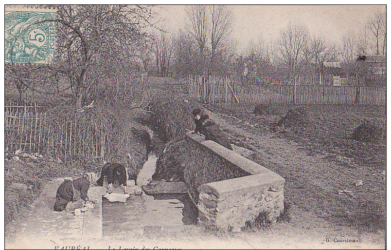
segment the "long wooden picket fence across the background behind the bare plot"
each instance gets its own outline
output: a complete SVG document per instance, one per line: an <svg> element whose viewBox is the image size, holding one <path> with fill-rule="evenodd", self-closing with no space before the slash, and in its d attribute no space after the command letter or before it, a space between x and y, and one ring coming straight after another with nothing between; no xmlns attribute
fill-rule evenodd
<svg viewBox="0 0 391 250"><path fill-rule="evenodd" d="M189 76L189 96L208 103L298 103L386 105L386 88L346 86L257 86L229 77ZM357 93L359 92L359 93ZM358 94L358 95L357 95Z"/></svg>

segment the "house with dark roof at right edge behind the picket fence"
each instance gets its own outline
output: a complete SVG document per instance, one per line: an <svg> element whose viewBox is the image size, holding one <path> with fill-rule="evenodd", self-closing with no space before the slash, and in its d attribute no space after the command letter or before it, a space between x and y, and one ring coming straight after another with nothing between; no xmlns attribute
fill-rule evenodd
<svg viewBox="0 0 391 250"><path fill-rule="evenodd" d="M369 86L386 86L386 56L359 55L360 83Z"/></svg>

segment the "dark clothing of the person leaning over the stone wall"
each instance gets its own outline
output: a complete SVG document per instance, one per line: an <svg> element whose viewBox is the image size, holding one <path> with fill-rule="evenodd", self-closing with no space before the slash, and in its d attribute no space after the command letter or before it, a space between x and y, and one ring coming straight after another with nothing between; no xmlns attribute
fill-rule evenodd
<svg viewBox="0 0 391 250"><path fill-rule="evenodd" d="M201 115L201 118L198 120L195 118L194 122L196 123L195 133L199 132L205 135L206 140L213 140L221 146L232 150L230 139L213 120L209 119L209 115Z"/></svg>

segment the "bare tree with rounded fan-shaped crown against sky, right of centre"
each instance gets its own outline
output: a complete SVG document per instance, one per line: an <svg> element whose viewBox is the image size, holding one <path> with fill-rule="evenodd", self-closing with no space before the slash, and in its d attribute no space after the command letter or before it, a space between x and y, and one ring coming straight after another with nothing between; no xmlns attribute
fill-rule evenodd
<svg viewBox="0 0 391 250"><path fill-rule="evenodd" d="M301 25L289 25L280 33L278 43L279 59L289 66L291 73L296 76L298 65L302 63L303 52L307 44L308 31Z"/></svg>

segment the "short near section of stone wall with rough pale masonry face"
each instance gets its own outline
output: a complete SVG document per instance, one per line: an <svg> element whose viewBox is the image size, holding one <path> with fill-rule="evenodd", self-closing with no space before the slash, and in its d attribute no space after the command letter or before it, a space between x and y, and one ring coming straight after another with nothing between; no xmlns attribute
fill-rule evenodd
<svg viewBox="0 0 391 250"><path fill-rule="evenodd" d="M237 230L261 212L274 223L284 211L284 182L281 176L257 174L201 185L198 223Z"/></svg>

